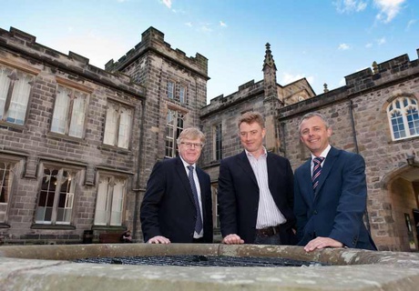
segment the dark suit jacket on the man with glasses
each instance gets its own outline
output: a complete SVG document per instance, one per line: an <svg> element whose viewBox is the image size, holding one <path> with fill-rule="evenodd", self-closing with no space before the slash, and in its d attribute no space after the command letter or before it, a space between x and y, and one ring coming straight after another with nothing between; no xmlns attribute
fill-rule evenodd
<svg viewBox="0 0 419 291"><path fill-rule="evenodd" d="M212 200L210 176L196 168L202 200L204 242L212 243ZM141 204L140 220L144 241L166 236L172 243L192 243L196 207L188 175L180 157L158 162L148 179Z"/></svg>

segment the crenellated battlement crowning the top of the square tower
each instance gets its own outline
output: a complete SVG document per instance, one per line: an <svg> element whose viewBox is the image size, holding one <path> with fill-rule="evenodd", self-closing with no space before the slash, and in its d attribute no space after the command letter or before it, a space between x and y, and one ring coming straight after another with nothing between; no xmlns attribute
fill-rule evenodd
<svg viewBox="0 0 419 291"><path fill-rule="evenodd" d="M179 49L172 49L171 45L164 41L164 34L152 26L142 33L141 42L138 45L130 49L126 55L122 55L118 62L114 62L113 59L108 61L105 69L111 72L122 70L149 50L208 78L208 58L199 53L195 57L187 56Z"/></svg>

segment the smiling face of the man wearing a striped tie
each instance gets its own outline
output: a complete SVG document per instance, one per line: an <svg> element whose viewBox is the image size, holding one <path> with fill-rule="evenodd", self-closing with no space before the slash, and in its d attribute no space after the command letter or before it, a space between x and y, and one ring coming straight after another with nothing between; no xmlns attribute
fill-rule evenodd
<svg viewBox="0 0 419 291"><path fill-rule="evenodd" d="M332 128L326 128L321 117L312 116L301 122L300 135L301 142L309 148L314 156L319 156L329 145Z"/></svg>

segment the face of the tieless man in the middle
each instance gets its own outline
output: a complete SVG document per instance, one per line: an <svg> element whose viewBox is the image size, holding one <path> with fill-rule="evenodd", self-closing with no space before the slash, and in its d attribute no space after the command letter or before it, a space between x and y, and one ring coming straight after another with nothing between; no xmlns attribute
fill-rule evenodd
<svg viewBox="0 0 419 291"><path fill-rule="evenodd" d="M241 145L251 154L261 151L265 128L257 122L251 124L242 122L239 128Z"/></svg>

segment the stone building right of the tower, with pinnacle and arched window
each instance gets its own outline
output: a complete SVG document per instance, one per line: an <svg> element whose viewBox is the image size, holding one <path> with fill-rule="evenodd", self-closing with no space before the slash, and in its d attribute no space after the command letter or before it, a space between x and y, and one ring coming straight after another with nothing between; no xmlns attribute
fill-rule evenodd
<svg viewBox="0 0 419 291"><path fill-rule="evenodd" d="M419 223L419 65L401 55L373 69L347 75L346 85L314 95L305 79L281 86L267 45L263 80L241 85L239 91L219 96L202 109L207 146L205 166L214 192L220 158L241 151L237 117L246 111L266 116L268 150L286 156L295 169L310 153L298 133L301 116L325 115L334 129L332 146L365 158L368 211L365 224L380 250L416 251ZM411 165L408 165L407 159ZM419 226L419 225L418 225Z"/></svg>

